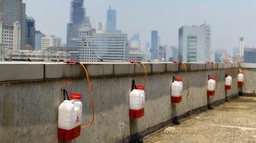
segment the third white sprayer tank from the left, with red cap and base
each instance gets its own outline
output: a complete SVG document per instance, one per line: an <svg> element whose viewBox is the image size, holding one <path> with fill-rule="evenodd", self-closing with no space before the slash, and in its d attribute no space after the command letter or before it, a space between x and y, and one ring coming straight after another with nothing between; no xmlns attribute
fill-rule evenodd
<svg viewBox="0 0 256 143"><path fill-rule="evenodd" d="M180 103L182 100L182 79L175 78L175 81L171 84L171 103Z"/></svg>

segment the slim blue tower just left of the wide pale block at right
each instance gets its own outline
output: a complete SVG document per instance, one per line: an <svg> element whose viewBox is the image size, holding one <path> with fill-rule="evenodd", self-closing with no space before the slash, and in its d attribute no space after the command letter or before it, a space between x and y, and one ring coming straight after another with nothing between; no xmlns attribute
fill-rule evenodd
<svg viewBox="0 0 256 143"><path fill-rule="evenodd" d="M158 31L151 31L151 48L150 48L151 58L158 59Z"/></svg>

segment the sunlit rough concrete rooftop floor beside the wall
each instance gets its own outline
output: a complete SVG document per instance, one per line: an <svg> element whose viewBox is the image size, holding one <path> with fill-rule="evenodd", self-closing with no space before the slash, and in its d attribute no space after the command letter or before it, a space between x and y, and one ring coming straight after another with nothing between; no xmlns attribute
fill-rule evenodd
<svg viewBox="0 0 256 143"><path fill-rule="evenodd" d="M256 97L238 97L143 138L143 143L256 142Z"/></svg>

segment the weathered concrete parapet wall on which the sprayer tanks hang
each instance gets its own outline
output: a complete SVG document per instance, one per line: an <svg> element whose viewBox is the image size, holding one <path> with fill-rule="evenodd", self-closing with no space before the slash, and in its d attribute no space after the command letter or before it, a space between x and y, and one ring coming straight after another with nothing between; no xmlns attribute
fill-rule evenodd
<svg viewBox="0 0 256 143"><path fill-rule="evenodd" d="M213 64L185 63L189 84L187 90L186 72L182 64L145 63L145 116L130 119L131 84L132 80L136 84L144 84L142 65L126 62L90 62L84 65L90 76L95 119L92 126L82 129L82 135L71 142L132 141L130 135L144 132L174 116L237 94L238 69L243 69L243 64L231 66L217 63L215 68ZM256 75L253 65L249 67L246 70L247 76ZM0 142L58 142L58 107L63 100L61 89L66 89L69 94L82 94L82 126L91 122L91 100L85 71L81 65L3 62L0 69ZM232 73L232 88L226 91L225 75L229 73ZM208 75L218 77L216 94L213 97L206 95ZM175 108L171 103L173 77L182 78L184 95L189 91L189 96L176 104ZM245 91L254 91L254 78L247 80Z"/></svg>

